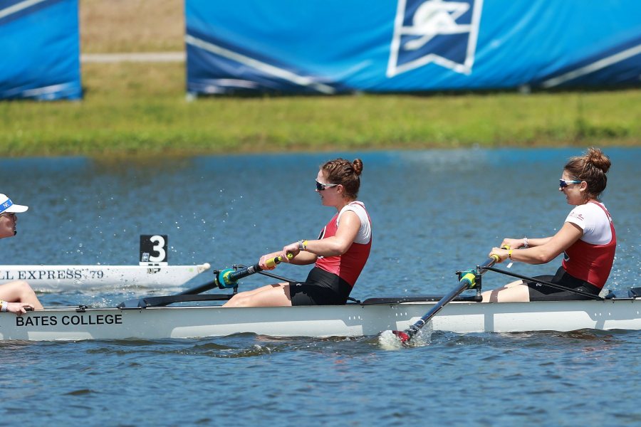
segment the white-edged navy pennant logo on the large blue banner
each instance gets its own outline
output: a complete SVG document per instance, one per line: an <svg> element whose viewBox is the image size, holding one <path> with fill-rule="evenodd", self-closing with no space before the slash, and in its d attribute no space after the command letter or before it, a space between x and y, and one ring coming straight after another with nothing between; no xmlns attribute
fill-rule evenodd
<svg viewBox="0 0 641 427"><path fill-rule="evenodd" d="M470 74L483 0L399 0L387 77L435 63Z"/></svg>

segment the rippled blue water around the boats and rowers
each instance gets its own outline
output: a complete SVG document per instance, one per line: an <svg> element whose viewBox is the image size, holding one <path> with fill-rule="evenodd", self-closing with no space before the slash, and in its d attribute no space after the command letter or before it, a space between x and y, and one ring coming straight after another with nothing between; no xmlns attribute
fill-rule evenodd
<svg viewBox="0 0 641 427"><path fill-rule="evenodd" d="M603 201L617 227L607 287L641 286L641 149L607 149ZM374 246L354 297L445 293L503 237L549 236L576 149L358 154ZM339 154L187 159L1 159L1 191L28 204L4 264L135 264L140 234L167 234L172 264L254 263L313 238L333 212L313 191ZM353 159L354 153L342 153ZM524 275L560 260L515 263ZM279 266L303 278L308 268ZM209 281L202 275L189 285ZM484 288L506 283L488 273ZM244 280L244 289L265 278ZM132 292L40 295L45 305L109 306ZM152 291L145 291L152 292ZM640 332L424 334L390 351L375 337L0 344L0 413L90 425L408 424L636 426Z"/></svg>

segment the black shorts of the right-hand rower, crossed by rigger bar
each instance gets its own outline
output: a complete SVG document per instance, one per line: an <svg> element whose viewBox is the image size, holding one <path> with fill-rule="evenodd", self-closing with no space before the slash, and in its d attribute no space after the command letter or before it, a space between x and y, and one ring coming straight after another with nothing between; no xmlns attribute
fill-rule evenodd
<svg viewBox="0 0 641 427"><path fill-rule="evenodd" d="M569 275L563 267L559 267L558 270L556 270L556 275L540 275L534 276L534 278L550 283L556 283L558 285L565 286L566 288L588 292L593 295L599 295L599 292L601 292L601 290L595 285ZM541 283L525 281L525 284L530 288L530 301L590 300L590 297L584 297L583 295L575 294L569 290L561 290L552 288L548 285L541 285Z"/></svg>

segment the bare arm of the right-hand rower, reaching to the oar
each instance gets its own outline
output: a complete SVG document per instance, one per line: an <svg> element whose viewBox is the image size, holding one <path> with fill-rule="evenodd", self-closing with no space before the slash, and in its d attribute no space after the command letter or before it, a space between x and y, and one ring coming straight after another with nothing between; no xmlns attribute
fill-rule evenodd
<svg viewBox="0 0 641 427"><path fill-rule="evenodd" d="M511 259L521 263L545 264L556 258L560 253L573 245L575 241L583 236L583 230L574 223L563 223L563 227L554 236L546 239L543 244L533 248L512 251ZM539 239L535 239L539 240ZM538 243L538 242L537 242ZM509 251L506 249L492 248L490 255L499 255L500 262L508 258Z"/></svg>

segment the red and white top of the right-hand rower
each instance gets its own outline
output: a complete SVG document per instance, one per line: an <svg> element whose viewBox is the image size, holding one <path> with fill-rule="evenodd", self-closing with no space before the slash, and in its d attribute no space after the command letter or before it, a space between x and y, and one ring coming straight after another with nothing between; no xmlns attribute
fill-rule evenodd
<svg viewBox="0 0 641 427"><path fill-rule="evenodd" d="M576 224L583 236L566 249L563 268L575 278L603 288L617 247L617 235L608 209L596 201L576 206L566 222Z"/></svg>

